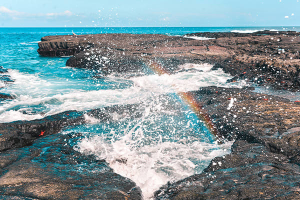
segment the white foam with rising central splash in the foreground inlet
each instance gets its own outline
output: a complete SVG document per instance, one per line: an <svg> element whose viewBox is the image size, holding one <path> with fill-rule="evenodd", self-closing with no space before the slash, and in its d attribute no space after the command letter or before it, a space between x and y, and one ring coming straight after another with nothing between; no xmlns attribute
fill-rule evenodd
<svg viewBox="0 0 300 200"><path fill-rule="evenodd" d="M152 132L160 128L152 120L158 117L157 112L161 110L151 113L145 110L132 128L86 137L74 149L105 159L116 173L132 179L141 188L145 199L151 198L153 192L167 181L199 173L213 157L230 152L232 142L217 145L216 142L201 142L193 136L180 139L180 128L171 135L148 135L149 124L156 127ZM146 119L149 114L154 115L150 120ZM119 132L124 134L117 136ZM111 139L110 135L115 137Z"/></svg>

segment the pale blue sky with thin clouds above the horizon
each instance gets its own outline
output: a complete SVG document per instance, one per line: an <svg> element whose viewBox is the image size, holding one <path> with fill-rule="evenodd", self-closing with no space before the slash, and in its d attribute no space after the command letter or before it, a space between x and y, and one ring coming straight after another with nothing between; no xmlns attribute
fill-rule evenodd
<svg viewBox="0 0 300 200"><path fill-rule="evenodd" d="M0 0L0 27L299 25L299 0Z"/></svg>

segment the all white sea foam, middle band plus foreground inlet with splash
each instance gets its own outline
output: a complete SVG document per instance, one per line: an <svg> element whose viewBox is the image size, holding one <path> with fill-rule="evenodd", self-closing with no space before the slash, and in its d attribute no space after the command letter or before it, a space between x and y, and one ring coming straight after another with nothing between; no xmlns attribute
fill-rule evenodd
<svg viewBox="0 0 300 200"><path fill-rule="evenodd" d="M179 68L194 68L197 71L187 70L171 75L152 74L129 78L111 75L108 78L129 81L132 86L124 89L89 91L57 89L62 84L61 81L47 81L40 78L39 74L10 70L9 74L15 82L6 90L9 93L13 92L17 98L0 105L0 121L32 120L65 110L87 110L113 104L149 101L149 98L152 99L159 94L189 91L201 86L238 86L226 82L231 78L230 75L221 69L211 70L211 67L212 65L208 64L187 63ZM31 112L30 109L35 107L39 111ZM163 118L159 118L159 114ZM144 197L148 199L154 190L167 181L175 181L200 172L211 158L230 152L231 142L219 146L215 142L201 140L202 133L195 135L197 132L190 130L191 121L184 123L181 129L177 128L178 114L179 112L164 110L161 102L153 100L145 103L140 118L127 119L125 126L117 125L117 129L114 130L108 128L109 134L92 133L74 148L82 153L92 153L98 158L104 158L116 173L136 182L141 187ZM89 125L99 123L96 118L86 114L84 117ZM166 124L170 127L167 127L168 134L163 136L161 125L165 123L157 123L166 121L165 117L169 117ZM116 113L111 113L111 118L110 123L126 120L126 117ZM190 131L193 134L188 134ZM111 135L115 136L111 138Z"/></svg>

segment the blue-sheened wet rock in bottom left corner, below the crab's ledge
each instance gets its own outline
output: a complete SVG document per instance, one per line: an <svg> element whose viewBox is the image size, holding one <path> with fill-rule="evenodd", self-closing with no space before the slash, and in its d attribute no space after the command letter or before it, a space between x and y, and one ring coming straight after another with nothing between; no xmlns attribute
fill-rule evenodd
<svg viewBox="0 0 300 200"><path fill-rule="evenodd" d="M104 160L72 149L78 134L48 135L0 153L0 199L142 199Z"/></svg>

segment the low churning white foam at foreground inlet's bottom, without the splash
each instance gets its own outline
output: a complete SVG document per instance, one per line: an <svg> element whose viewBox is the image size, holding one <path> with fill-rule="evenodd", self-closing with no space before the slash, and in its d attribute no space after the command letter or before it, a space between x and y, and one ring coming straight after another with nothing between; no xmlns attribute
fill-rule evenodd
<svg viewBox="0 0 300 200"><path fill-rule="evenodd" d="M105 136L96 135L83 139L76 148L105 159L116 173L132 179L146 199L167 181L201 172L212 158L228 154L232 145L232 142L222 145L199 141L188 143L182 139L136 146L135 139L126 137L107 142Z"/></svg>

